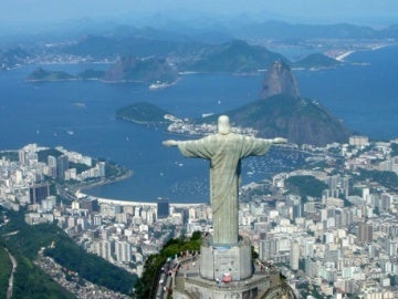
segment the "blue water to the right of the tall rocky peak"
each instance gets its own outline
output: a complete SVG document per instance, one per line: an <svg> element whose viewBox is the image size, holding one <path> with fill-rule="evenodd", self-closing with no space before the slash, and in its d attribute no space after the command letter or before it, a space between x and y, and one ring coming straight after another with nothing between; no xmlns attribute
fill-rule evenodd
<svg viewBox="0 0 398 299"><path fill-rule="evenodd" d="M352 130L373 140L398 136L398 47L349 55L353 64L297 72L301 94L318 100Z"/></svg>

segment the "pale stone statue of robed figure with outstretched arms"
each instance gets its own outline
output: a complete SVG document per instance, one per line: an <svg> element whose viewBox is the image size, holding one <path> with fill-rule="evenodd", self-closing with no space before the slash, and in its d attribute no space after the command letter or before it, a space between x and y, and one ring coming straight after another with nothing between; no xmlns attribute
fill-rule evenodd
<svg viewBox="0 0 398 299"><path fill-rule="evenodd" d="M210 204L213 219L213 246L238 244L238 189L241 159L264 155L272 144L285 138L255 138L231 133L229 117L218 120L218 134L195 141L165 141L166 146L178 146L186 157L210 161Z"/></svg>

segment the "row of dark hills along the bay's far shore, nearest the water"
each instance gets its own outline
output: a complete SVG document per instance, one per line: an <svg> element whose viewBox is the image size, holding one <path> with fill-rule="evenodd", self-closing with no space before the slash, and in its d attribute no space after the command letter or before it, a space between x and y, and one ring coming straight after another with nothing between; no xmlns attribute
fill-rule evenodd
<svg viewBox="0 0 398 299"><path fill-rule="evenodd" d="M95 48L97 40L93 39L93 44L85 43L84 48ZM106 44L106 43L105 43ZM186 48L187 50L187 48ZM85 52L84 51L84 52ZM88 51L90 52L90 51ZM185 59L174 61L172 58L164 59L159 56L137 58L135 55L123 56L117 60L107 71L86 70L77 75L67 74L63 71L34 70L28 81L59 81L59 80L88 80L97 79L104 82L143 82L147 84L170 84L179 78L179 72L224 72L235 74L256 73L265 69L274 61L283 61L295 68L335 68L341 62L327 58L323 54L312 54L297 62L290 62L286 58L275 52L271 52L260 45L250 45L245 41L233 40L221 45L203 45L197 48L195 53L186 53Z"/></svg>

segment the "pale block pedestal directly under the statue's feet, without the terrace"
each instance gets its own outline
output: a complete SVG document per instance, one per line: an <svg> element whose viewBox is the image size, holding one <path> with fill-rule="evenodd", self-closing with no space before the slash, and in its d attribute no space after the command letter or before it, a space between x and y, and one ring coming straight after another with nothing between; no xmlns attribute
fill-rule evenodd
<svg viewBox="0 0 398 299"><path fill-rule="evenodd" d="M214 246L211 237L206 237L200 256L200 276L206 279L221 281L229 276L232 281L240 281L253 272L251 244L247 239L234 246Z"/></svg>

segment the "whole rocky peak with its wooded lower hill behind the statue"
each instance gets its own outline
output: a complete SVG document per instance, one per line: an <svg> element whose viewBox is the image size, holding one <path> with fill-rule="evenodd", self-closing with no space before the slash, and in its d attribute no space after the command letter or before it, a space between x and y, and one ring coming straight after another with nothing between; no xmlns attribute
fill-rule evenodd
<svg viewBox="0 0 398 299"><path fill-rule="evenodd" d="M296 144L346 143L350 135L320 102L300 96L292 71L283 61L269 68L260 100L227 114L233 123L258 130L260 137L283 136Z"/></svg>

